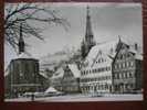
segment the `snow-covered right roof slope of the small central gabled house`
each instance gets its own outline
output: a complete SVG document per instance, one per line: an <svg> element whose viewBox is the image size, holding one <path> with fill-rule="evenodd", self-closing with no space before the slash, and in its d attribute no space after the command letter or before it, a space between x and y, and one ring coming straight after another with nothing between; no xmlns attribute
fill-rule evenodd
<svg viewBox="0 0 147 110"><path fill-rule="evenodd" d="M78 78L81 75L81 72L77 68L76 64L69 64L69 68L71 69L71 72L73 73L74 77Z"/></svg>

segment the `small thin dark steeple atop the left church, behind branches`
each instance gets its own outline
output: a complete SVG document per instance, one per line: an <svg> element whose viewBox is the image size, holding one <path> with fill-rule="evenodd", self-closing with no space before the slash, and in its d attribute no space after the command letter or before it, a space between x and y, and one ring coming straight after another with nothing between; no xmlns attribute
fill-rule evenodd
<svg viewBox="0 0 147 110"><path fill-rule="evenodd" d="M22 24L20 24L19 54L24 52L24 46L25 44L24 44L24 40L22 36Z"/></svg>

